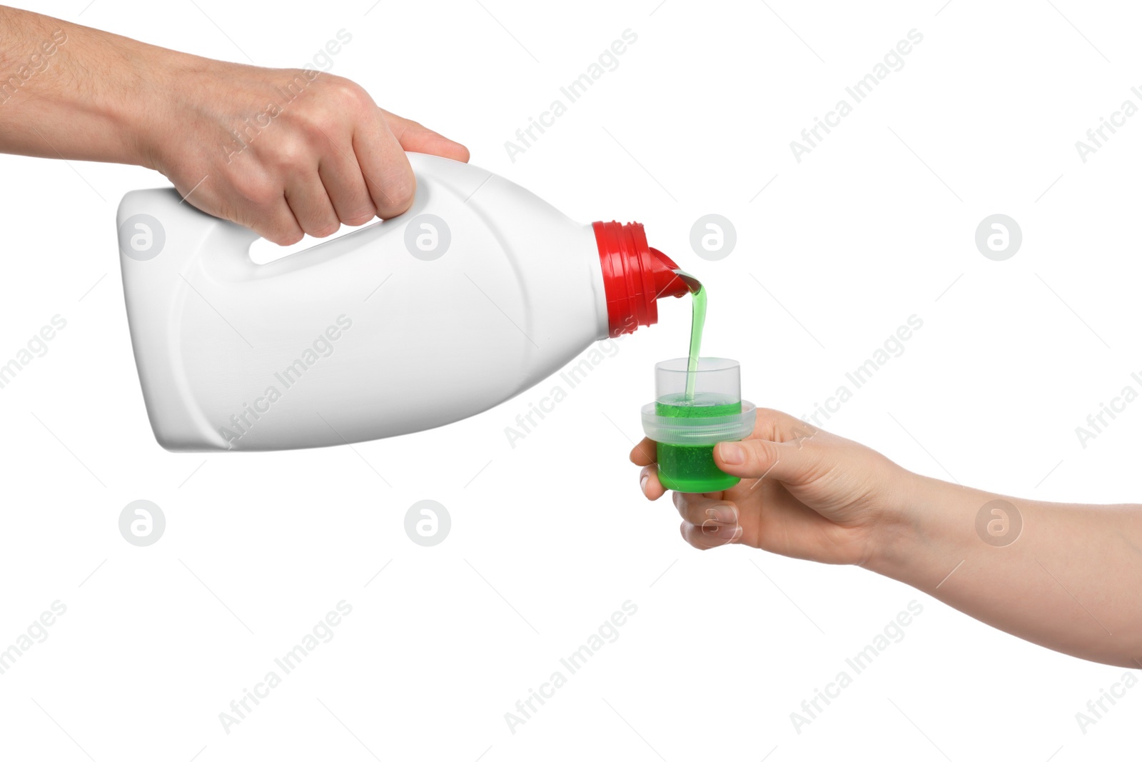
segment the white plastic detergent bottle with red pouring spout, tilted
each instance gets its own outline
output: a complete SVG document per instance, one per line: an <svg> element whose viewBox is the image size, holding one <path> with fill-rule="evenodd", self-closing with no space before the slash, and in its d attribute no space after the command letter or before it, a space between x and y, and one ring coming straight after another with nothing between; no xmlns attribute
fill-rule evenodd
<svg viewBox="0 0 1142 762"><path fill-rule="evenodd" d="M642 225L581 225L486 170L409 160L409 211L260 265L256 233L174 189L123 196L127 315L162 447L322 447L448 424L687 292Z"/></svg>

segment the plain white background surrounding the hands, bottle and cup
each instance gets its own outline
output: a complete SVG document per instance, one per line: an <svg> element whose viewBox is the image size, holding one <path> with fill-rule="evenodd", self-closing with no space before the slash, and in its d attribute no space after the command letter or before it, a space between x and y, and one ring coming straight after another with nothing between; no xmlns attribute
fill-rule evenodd
<svg viewBox="0 0 1142 762"><path fill-rule="evenodd" d="M916 314L924 327L906 352L828 428L1008 495L1137 497L1142 410L1085 449L1075 434L1142 370L1142 117L1086 163L1075 149L1124 99L1142 105L1129 91L1142 85L1136 8L481 2L38 9L268 66L300 66L345 29L353 41L332 71L379 104L577 219L643 222L707 283L705 353L741 361L747 398L809 412ZM619 67L512 162L504 142L627 29L638 40ZM789 142L911 29L924 39L904 67L795 161ZM1075 719L1120 668L861 569L682 543L674 508L641 497L626 457L653 363L684 352L685 302L662 304L658 326L624 339L514 449L504 428L546 382L473 419L355 450L175 455L147 425L114 230L121 195L164 178L11 157L0 176L0 361L53 315L67 321L0 390L0 648L53 601L67 607L0 675L3 757L1136 754L1142 689L1085 735ZM690 250L708 212L737 227L721 262ZM973 241L996 212L1023 232L1006 262ZM145 548L118 530L140 498L167 516ZM426 498L452 516L428 548L403 530ZM340 600L353 612L333 640L224 732L219 712ZM513 735L504 713L627 600L638 610L620 637ZM912 600L923 613L906 637L798 735L790 712Z"/></svg>

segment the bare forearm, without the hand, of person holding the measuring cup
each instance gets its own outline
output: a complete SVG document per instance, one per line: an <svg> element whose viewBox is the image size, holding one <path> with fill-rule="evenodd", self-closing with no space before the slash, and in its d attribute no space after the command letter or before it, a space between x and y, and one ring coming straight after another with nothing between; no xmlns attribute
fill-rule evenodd
<svg viewBox="0 0 1142 762"><path fill-rule="evenodd" d="M1021 500L920 476L907 494L870 569L1040 645L1142 667L1142 506Z"/></svg>

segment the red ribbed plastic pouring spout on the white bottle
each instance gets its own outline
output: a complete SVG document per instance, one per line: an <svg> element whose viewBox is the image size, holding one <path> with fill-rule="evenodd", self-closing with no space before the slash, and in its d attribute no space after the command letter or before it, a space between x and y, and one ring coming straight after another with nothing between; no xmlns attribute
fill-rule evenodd
<svg viewBox="0 0 1142 762"><path fill-rule="evenodd" d="M678 265L646 244L640 223L595 223L598 259L603 265L610 335L633 334L658 322L658 299L690 292L675 274Z"/></svg>

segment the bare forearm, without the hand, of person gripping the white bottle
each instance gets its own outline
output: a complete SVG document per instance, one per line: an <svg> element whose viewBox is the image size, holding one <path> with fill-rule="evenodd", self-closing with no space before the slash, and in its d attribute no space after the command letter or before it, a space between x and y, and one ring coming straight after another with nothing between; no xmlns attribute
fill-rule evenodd
<svg viewBox="0 0 1142 762"><path fill-rule="evenodd" d="M146 165L155 95L187 58L0 6L0 152Z"/></svg>

